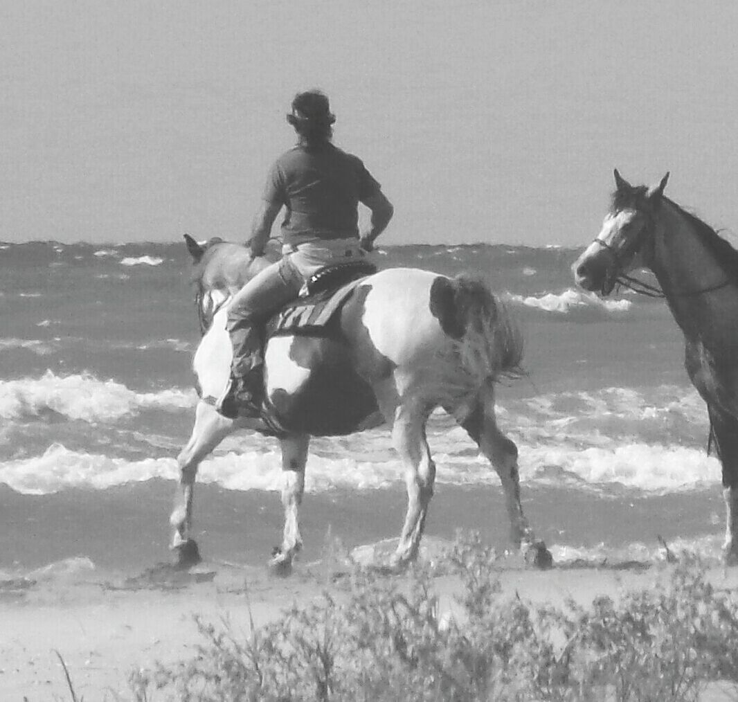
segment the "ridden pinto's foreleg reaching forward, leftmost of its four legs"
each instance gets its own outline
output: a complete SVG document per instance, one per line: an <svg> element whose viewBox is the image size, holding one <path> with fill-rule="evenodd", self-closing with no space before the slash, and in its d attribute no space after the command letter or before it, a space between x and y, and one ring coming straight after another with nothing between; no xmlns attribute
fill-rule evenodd
<svg viewBox="0 0 738 702"><path fill-rule="evenodd" d="M169 518L172 526L170 548L177 552L177 565L187 568L199 562L197 544L190 537L192 527L193 490L200 461L235 428L235 421L218 414L213 405L198 402L195 426L190 441L177 456L179 484L174 509Z"/></svg>

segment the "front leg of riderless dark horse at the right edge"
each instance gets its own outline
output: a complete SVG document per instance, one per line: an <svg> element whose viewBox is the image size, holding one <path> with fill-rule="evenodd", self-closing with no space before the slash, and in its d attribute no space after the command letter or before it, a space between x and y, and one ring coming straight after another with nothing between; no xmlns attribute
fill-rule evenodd
<svg viewBox="0 0 738 702"><path fill-rule="evenodd" d="M725 543L723 558L728 565L738 563L738 419L708 404L715 448L723 467L725 497Z"/></svg>

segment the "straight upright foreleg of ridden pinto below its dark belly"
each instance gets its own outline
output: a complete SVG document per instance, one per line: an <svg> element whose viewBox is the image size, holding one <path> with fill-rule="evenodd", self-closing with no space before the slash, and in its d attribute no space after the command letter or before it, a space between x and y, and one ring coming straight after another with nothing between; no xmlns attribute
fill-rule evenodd
<svg viewBox="0 0 738 702"><path fill-rule="evenodd" d="M300 503L305 492L305 464L308 458L310 437L296 434L280 439L282 448L282 505L284 507L284 533L282 545L275 548L269 566L277 575L288 575L292 559L303 547L300 536Z"/></svg>

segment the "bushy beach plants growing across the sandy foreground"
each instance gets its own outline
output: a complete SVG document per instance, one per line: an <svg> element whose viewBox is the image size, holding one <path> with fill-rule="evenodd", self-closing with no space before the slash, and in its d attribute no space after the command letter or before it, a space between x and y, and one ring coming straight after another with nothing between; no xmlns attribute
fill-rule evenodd
<svg viewBox="0 0 738 702"><path fill-rule="evenodd" d="M738 599L697 560L658 566L654 584L591 605L504 594L474 534L402 577L356 569L309 605L233 630L197 624L195 655L137 670L137 702L696 701L717 683L738 700ZM438 574L461 579L439 607Z"/></svg>

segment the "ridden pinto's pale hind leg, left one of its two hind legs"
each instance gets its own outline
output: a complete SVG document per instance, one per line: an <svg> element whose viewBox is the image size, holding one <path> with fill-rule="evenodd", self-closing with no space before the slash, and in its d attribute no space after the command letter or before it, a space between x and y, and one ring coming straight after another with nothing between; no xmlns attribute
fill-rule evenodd
<svg viewBox="0 0 738 702"><path fill-rule="evenodd" d="M404 463L407 515L393 557L394 565L402 565L418 555L430 498L433 496L435 464L425 436L427 416L427 409L414 404L400 405L395 414L392 438Z"/></svg>

